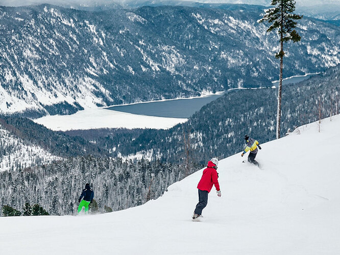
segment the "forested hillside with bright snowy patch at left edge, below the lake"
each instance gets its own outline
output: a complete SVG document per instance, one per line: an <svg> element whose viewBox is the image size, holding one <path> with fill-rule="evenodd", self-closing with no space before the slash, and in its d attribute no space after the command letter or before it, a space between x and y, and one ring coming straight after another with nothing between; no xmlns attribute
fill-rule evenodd
<svg viewBox="0 0 340 255"><path fill-rule="evenodd" d="M25 169L68 157L109 152L87 140L53 132L30 119L0 115L0 171Z"/></svg>

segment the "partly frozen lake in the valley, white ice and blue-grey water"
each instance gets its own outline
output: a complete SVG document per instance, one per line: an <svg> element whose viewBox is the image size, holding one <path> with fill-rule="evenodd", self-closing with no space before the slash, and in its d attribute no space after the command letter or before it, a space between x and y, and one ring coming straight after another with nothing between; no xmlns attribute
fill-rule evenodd
<svg viewBox="0 0 340 255"><path fill-rule="evenodd" d="M309 77L310 75L303 79ZM287 81L288 79L285 80L285 82ZM301 81L301 77L291 78L288 83L298 81ZM55 131L120 127L126 129L169 129L178 123L187 121L188 117L222 94L85 109L71 115L47 115L34 121Z"/></svg>

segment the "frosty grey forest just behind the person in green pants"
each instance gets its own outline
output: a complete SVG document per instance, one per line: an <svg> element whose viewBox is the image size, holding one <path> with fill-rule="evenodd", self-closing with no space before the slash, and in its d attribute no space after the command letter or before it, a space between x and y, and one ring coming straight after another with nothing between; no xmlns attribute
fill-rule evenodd
<svg viewBox="0 0 340 255"><path fill-rule="evenodd" d="M70 158L18 171L0 172L0 206L17 210L39 203L52 215L73 214L85 183L91 182L98 212L123 210L161 196L181 180L185 170L159 161Z"/></svg>

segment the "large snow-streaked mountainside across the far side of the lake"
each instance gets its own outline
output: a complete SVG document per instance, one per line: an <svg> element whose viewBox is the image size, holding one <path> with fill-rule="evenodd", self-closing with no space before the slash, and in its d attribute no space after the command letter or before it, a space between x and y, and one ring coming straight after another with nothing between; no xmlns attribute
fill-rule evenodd
<svg viewBox="0 0 340 255"><path fill-rule="evenodd" d="M263 7L141 7L85 12L0 7L0 111L21 116L270 86L278 37ZM340 28L305 17L285 75L340 63Z"/></svg>

